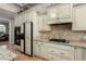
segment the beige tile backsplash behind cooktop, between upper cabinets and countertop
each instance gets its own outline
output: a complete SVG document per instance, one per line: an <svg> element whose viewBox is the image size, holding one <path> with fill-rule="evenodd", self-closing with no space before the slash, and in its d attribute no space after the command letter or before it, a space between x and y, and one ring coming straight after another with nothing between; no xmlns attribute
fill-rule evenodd
<svg viewBox="0 0 86 64"><path fill-rule="evenodd" d="M40 38L42 39L67 39L81 41L85 40L86 31L73 31L71 24L62 24L62 25L51 25L51 31L40 33Z"/></svg>

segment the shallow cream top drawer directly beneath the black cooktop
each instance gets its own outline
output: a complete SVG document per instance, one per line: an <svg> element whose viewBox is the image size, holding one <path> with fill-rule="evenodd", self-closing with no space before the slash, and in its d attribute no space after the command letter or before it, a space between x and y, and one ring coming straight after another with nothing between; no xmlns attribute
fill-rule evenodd
<svg viewBox="0 0 86 64"><path fill-rule="evenodd" d="M71 49L73 49L73 47L56 44L54 42L53 43L47 43L47 46L50 47L50 48L62 49L62 50L71 50Z"/></svg>

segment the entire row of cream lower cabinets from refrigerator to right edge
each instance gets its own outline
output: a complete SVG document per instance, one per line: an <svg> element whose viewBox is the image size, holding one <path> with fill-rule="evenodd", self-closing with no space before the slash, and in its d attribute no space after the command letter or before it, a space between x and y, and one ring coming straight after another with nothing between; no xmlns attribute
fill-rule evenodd
<svg viewBox="0 0 86 64"><path fill-rule="evenodd" d="M50 61L86 61L86 49L47 42L34 42L34 55Z"/></svg>

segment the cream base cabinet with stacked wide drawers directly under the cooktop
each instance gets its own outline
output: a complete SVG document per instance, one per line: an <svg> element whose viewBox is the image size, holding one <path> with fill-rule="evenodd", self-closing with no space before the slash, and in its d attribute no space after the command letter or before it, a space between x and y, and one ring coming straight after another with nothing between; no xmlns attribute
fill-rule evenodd
<svg viewBox="0 0 86 64"><path fill-rule="evenodd" d="M48 43L48 54L53 61L73 61L74 47Z"/></svg>

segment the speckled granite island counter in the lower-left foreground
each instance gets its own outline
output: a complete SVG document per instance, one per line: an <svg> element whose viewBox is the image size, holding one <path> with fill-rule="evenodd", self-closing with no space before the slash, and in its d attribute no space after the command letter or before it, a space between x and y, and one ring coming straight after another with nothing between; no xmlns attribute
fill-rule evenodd
<svg viewBox="0 0 86 64"><path fill-rule="evenodd" d="M12 61L16 57L16 54L0 47L0 61Z"/></svg>

